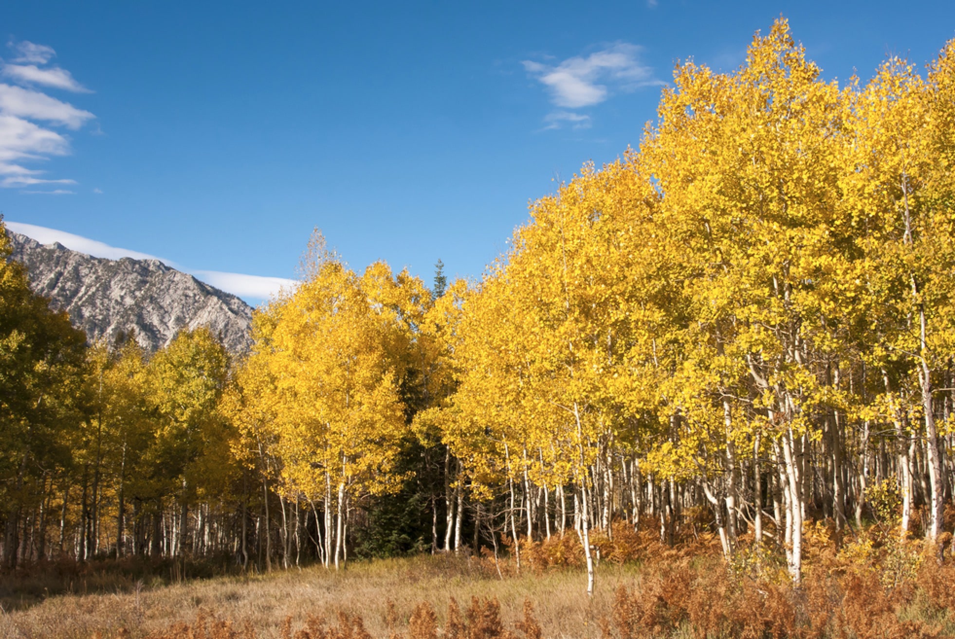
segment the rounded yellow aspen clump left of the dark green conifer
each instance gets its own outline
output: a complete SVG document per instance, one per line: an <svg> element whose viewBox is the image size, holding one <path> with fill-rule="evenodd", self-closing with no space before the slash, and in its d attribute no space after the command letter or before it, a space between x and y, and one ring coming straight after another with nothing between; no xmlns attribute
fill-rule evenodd
<svg viewBox="0 0 955 639"><path fill-rule="evenodd" d="M337 566L353 503L404 479L393 468L408 434L401 384L428 294L383 263L359 278L324 249L307 275L257 312L256 345L226 406L246 459L258 454L288 497L334 513L327 557Z"/></svg>

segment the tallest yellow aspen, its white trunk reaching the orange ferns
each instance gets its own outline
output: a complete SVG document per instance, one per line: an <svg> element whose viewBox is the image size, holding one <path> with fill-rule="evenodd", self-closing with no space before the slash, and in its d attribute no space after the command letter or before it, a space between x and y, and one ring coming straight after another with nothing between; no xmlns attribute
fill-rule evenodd
<svg viewBox="0 0 955 639"><path fill-rule="evenodd" d="M780 20L732 75L678 68L644 145L662 206L689 245L693 315L711 326L716 355L731 350L745 363L760 428L779 444L796 581L805 498L796 456L804 435L816 437L810 359L824 323L815 282L839 255L828 225L839 193L840 96ZM723 412L732 431L732 409Z"/></svg>

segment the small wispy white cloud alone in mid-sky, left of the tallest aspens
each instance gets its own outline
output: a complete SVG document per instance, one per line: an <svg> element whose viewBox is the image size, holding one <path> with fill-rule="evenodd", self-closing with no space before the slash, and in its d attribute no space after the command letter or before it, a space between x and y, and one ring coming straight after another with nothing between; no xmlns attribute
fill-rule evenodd
<svg viewBox="0 0 955 639"><path fill-rule="evenodd" d="M588 116L566 110L584 109L604 102L614 93L629 93L641 87L663 84L653 70L640 60L643 50L626 42L618 42L589 55L578 55L557 65L524 60L523 66L550 93L554 106L563 111L548 114L547 129L572 124L581 128ZM556 125L556 126L554 126Z"/></svg>

